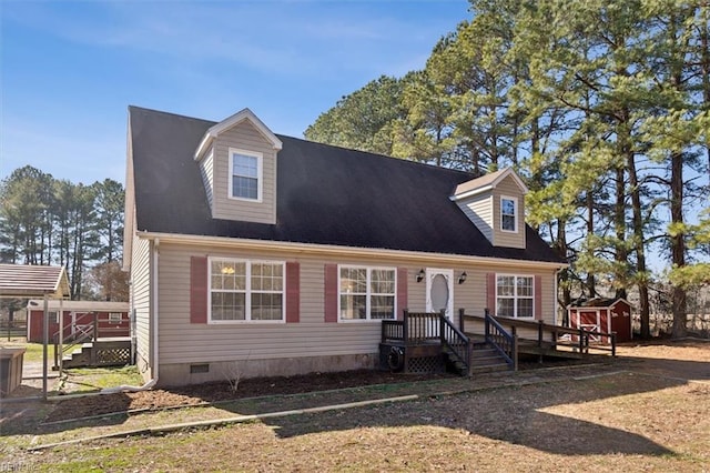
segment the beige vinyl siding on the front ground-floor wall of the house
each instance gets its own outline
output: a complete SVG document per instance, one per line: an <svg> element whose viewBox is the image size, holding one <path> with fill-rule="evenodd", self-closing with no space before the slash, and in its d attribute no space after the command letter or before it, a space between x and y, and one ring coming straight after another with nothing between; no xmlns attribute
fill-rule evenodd
<svg viewBox="0 0 710 473"><path fill-rule="evenodd" d="M252 260L297 261L301 274L298 323L190 323L190 258L192 255L241 258ZM160 252L160 361L161 364L207 363L232 360L273 360L306 356L373 354L378 350L381 322L324 321L325 264L358 264L407 269L407 306L426 310L426 283L417 283L416 273L423 265L403 264L382 258L324 259L278 251L242 252L219 246L186 246L161 243ZM436 265L442 268L440 265ZM426 266L424 266L426 268ZM445 266L444 266L445 268ZM475 266L453 268L455 280L462 271L468 279L454 284L454 308L481 314L486 304L486 270ZM511 261L510 272L517 273ZM549 279L551 274L548 274ZM550 280L551 281L551 280ZM551 316L550 299L544 309ZM397 301L397 312L404 306Z"/></svg>

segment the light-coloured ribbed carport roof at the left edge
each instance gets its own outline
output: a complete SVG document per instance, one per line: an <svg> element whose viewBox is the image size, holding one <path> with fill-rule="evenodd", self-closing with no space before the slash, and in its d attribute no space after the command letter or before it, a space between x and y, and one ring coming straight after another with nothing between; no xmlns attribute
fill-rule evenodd
<svg viewBox="0 0 710 473"><path fill-rule="evenodd" d="M0 264L0 298L68 298L64 266Z"/></svg>

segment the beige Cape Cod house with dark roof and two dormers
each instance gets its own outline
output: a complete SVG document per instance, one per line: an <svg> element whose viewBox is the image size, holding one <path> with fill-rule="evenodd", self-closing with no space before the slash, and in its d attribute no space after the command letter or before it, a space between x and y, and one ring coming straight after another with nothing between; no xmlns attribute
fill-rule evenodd
<svg viewBox="0 0 710 473"><path fill-rule="evenodd" d="M124 266L159 385L373 368L381 321L555 322L565 266L511 170L466 172L131 107ZM454 319L455 320L455 319Z"/></svg>

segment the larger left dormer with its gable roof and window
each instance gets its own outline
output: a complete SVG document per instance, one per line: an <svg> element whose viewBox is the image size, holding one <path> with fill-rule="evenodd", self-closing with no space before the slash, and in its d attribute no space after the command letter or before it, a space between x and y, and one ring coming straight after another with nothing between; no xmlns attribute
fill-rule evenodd
<svg viewBox="0 0 710 473"><path fill-rule="evenodd" d="M276 223L281 140L244 109L211 127L195 151L213 219Z"/></svg>

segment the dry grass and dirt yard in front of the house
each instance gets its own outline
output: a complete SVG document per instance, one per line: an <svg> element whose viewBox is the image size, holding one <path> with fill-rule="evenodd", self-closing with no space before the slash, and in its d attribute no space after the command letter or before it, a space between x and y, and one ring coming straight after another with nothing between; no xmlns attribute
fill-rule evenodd
<svg viewBox="0 0 710 473"><path fill-rule="evenodd" d="M710 343L630 344L619 355L470 380L356 372L244 380L236 393L217 383L72 399L36 412L34 424L21 410L12 419L3 412L0 453L13 459L9 467L38 471L708 471ZM417 397L27 450L140 425L406 394ZM173 405L192 407L159 411ZM116 409L148 411L61 422Z"/></svg>

